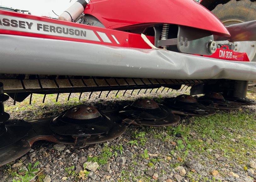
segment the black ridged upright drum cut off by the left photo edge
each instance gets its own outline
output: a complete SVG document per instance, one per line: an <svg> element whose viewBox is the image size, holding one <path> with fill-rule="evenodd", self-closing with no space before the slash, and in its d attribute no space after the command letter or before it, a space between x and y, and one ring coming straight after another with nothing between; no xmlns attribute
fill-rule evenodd
<svg viewBox="0 0 256 182"><path fill-rule="evenodd" d="M10 118L10 115L4 112L3 104L8 99L9 96L3 93L3 83L0 82L0 136L6 132L5 122Z"/></svg>

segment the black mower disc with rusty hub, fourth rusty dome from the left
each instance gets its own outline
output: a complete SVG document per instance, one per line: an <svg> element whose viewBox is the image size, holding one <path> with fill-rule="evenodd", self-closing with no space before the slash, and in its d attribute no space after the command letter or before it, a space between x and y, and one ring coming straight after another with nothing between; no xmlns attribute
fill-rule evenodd
<svg viewBox="0 0 256 182"><path fill-rule="evenodd" d="M224 99L220 93L216 92L209 92L204 96L197 98L197 101L206 107L215 110L234 110L241 107L238 104L229 102L228 100Z"/></svg>

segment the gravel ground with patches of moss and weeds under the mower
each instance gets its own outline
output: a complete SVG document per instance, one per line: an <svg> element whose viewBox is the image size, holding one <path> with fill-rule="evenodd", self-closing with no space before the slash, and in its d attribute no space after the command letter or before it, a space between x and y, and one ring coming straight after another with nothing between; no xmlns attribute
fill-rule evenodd
<svg viewBox="0 0 256 182"><path fill-rule="evenodd" d="M160 89L161 91L162 89ZM184 89L185 90L185 89ZM186 93L185 91L182 93ZM156 90L153 90L155 92ZM77 104L91 104L98 109L123 107L138 97L161 101L181 92L131 96L123 91L117 96L111 92L98 98L99 92L83 94L48 95L42 104L42 95L33 95L13 105L5 102L11 118L32 119L52 117ZM152 92L152 93L153 93ZM248 93L254 98L254 91ZM152 96L153 95L153 96ZM236 111L218 111L208 117L182 117L176 126L129 126L125 133L109 142L74 148L71 145L38 141L25 156L0 168L0 181L25 181L16 177L19 169L35 167L36 177L31 181L256 181L256 116L255 106L244 106ZM24 172L23 172L24 173ZM30 174L30 173L29 173ZM31 175L31 174L30 174ZM30 179L29 179L30 180ZM28 180L28 181L29 181Z"/></svg>

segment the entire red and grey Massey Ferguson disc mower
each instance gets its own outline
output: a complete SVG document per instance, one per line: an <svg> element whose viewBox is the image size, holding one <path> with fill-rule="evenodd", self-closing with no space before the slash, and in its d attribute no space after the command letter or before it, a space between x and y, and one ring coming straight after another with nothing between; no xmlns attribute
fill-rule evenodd
<svg viewBox="0 0 256 182"><path fill-rule="evenodd" d="M59 20L0 10L0 165L38 140L82 147L114 139L131 124L167 126L180 115L254 105L246 93L256 63L233 51L232 42L255 40L256 21L225 27L192 0L78 0ZM61 93L184 85L190 95L164 103L139 99L121 110L77 105L28 121L4 112L9 97L15 104L33 94L58 100Z"/></svg>

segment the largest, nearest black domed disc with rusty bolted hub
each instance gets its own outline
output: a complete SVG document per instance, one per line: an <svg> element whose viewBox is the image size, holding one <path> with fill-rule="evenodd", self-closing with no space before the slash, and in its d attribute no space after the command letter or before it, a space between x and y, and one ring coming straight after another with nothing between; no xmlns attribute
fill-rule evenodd
<svg viewBox="0 0 256 182"><path fill-rule="evenodd" d="M113 122L109 117L87 105L72 107L50 123L51 130L57 134L76 137L103 134L108 132L112 126Z"/></svg>

